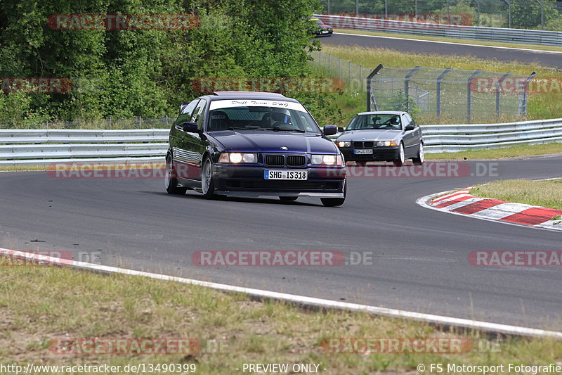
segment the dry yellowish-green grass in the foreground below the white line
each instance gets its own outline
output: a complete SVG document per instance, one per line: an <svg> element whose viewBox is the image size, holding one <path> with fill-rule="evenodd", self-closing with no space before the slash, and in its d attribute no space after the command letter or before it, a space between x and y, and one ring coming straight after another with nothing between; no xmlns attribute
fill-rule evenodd
<svg viewBox="0 0 562 375"><path fill-rule="evenodd" d="M360 312L301 310L287 303L257 302L246 295L141 277L67 267L2 268L3 364L192 363L197 374L213 375L237 374L240 371L235 369L249 362L315 363L327 368L320 371L327 375L396 375L415 374L419 363L542 364L562 360L562 341L549 338L508 337L496 342L478 331L440 330L422 322ZM93 337L192 338L202 343L203 350L192 355L72 355L53 354L48 349L56 338ZM493 350L342 354L322 348L326 338L351 337L468 338Z"/></svg>

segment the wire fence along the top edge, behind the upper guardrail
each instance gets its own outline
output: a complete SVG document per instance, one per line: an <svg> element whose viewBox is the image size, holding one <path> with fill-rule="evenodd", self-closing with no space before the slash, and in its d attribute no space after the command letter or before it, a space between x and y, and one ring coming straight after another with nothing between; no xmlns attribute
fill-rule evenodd
<svg viewBox="0 0 562 375"><path fill-rule="evenodd" d="M323 14L562 31L562 2L549 0L321 0Z"/></svg>

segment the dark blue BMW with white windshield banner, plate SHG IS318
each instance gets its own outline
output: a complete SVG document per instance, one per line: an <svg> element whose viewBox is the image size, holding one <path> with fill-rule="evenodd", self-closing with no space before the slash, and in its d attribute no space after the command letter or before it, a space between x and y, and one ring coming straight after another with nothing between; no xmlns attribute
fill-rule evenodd
<svg viewBox="0 0 562 375"><path fill-rule="evenodd" d="M220 91L181 106L166 155L166 191L216 196L346 198L346 167L336 145L304 106L281 94Z"/></svg>

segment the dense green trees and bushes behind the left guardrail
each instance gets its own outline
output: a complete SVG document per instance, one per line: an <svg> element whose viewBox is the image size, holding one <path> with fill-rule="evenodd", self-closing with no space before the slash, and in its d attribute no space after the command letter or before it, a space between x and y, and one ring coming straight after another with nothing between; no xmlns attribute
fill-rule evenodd
<svg viewBox="0 0 562 375"><path fill-rule="evenodd" d="M66 92L0 94L0 123L156 117L202 77L307 77L315 0L2 0L0 77L59 77ZM57 30L53 15L188 14L191 30ZM95 29L95 27L93 28ZM30 87L32 89L32 87ZM295 94L326 110L318 94Z"/></svg>

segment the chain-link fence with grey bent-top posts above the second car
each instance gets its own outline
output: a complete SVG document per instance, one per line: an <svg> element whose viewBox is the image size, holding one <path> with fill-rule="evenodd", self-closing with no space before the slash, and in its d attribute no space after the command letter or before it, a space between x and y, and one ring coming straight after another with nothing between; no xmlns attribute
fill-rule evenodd
<svg viewBox="0 0 562 375"><path fill-rule="evenodd" d="M457 123L516 119L527 113L534 75L379 65L367 77L367 110L406 110Z"/></svg>

